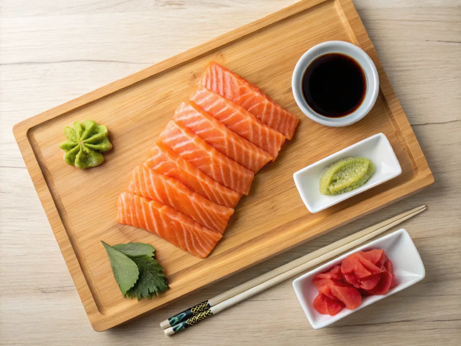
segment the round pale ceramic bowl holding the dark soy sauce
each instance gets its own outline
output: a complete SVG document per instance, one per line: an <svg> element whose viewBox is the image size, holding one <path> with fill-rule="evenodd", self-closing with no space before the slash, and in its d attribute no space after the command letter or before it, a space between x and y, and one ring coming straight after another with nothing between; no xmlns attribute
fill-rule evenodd
<svg viewBox="0 0 461 346"><path fill-rule="evenodd" d="M315 112L302 95L302 78L307 67L319 56L329 53L342 53L359 63L365 72L367 91L362 104L351 114L339 118L329 118ZM292 77L294 100L301 111L313 121L330 127L347 126L365 117L375 105L379 91L379 76L373 60L361 48L345 41L327 41L314 45L296 63Z"/></svg>

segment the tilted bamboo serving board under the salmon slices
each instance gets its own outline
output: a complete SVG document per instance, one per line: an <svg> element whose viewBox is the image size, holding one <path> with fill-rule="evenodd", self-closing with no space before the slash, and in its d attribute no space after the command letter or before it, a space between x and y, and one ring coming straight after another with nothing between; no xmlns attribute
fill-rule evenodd
<svg viewBox="0 0 461 346"><path fill-rule="evenodd" d="M377 66L380 92L362 121L346 128L312 122L296 106L291 77L310 47L342 40L362 47ZM224 238L198 259L142 229L115 221L131 170L146 159L176 106L214 60L248 79L300 119L277 160L255 175ZM114 149L86 171L64 163L64 127L92 119L109 129ZM293 173L378 132L389 139L402 174L317 214L299 197ZM96 331L171 303L313 237L417 192L434 180L351 0L305 0L152 67L27 119L14 135L43 208ZM124 299L100 241L156 248L170 290L152 300ZM165 316L167 317L167 316Z"/></svg>

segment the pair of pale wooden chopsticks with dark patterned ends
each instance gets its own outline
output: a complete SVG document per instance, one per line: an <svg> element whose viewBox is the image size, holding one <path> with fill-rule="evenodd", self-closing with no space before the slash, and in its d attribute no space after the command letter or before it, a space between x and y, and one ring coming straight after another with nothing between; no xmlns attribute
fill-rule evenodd
<svg viewBox="0 0 461 346"><path fill-rule="evenodd" d="M239 286L236 286L218 296L210 298L208 301L197 304L181 313L168 318L160 323L166 335L170 336L186 329L211 315L215 315L222 310L240 303L286 279L299 274L315 265L318 265L328 259L331 259L367 240L376 237L378 234L385 232L393 226L413 217L426 210L422 205L408 212L391 217L387 220L377 223L371 227L365 228L343 239L340 239L330 245L315 250L307 255L284 264L278 268L268 271L254 279L251 279Z"/></svg>

